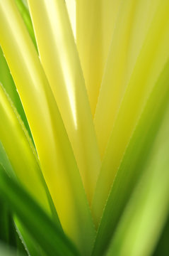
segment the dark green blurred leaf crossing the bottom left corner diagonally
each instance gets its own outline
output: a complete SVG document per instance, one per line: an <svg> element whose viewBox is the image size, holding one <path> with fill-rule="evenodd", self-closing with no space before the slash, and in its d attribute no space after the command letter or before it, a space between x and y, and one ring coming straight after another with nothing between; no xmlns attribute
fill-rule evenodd
<svg viewBox="0 0 169 256"><path fill-rule="evenodd" d="M7 176L1 166L0 192L1 198L16 213L22 225L47 255L78 255L69 238L52 222L33 198L16 181Z"/></svg>

